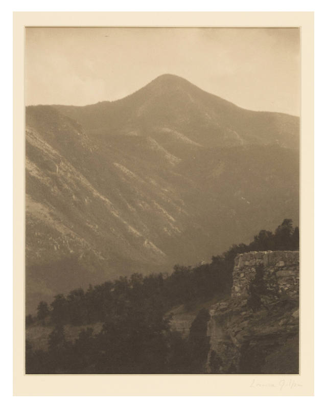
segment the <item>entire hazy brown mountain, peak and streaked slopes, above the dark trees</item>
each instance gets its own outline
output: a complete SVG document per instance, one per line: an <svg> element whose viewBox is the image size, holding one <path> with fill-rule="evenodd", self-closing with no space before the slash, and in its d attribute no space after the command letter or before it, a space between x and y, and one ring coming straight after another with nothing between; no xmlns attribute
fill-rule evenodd
<svg viewBox="0 0 327 409"><path fill-rule="evenodd" d="M28 308L297 224L297 127L174 76L112 103L27 107Z"/></svg>

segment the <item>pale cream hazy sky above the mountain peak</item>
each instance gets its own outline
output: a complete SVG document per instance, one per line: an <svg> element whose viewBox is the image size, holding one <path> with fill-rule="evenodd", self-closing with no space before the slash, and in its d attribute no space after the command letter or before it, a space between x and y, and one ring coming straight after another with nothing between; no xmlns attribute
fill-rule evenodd
<svg viewBox="0 0 327 409"><path fill-rule="evenodd" d="M299 115L299 30L26 29L27 105L113 101L166 73L244 108Z"/></svg>

